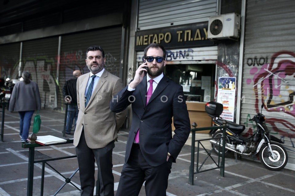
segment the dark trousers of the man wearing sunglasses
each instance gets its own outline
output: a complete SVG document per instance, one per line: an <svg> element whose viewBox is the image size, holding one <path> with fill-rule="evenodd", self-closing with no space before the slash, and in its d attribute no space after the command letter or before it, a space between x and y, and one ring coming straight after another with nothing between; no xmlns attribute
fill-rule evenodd
<svg viewBox="0 0 295 196"><path fill-rule="evenodd" d="M133 144L130 157L121 172L116 196L138 195L144 181L146 196L166 196L171 166L171 158L157 167L150 166L140 149Z"/></svg>

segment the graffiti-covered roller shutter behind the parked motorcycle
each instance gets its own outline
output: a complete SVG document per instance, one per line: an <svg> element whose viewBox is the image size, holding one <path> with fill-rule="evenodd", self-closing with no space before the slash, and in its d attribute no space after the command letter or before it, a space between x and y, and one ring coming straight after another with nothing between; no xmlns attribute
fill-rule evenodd
<svg viewBox="0 0 295 196"><path fill-rule="evenodd" d="M267 126L285 141L286 168L294 170L295 4L289 0L246 3L241 122L251 132L248 119L265 104Z"/></svg>

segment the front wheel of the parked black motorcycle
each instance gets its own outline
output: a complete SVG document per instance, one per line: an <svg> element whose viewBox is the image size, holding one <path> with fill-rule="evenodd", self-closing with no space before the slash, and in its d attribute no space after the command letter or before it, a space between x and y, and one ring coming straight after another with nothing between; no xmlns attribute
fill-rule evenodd
<svg viewBox="0 0 295 196"><path fill-rule="evenodd" d="M268 145L265 144L259 151L259 159L265 168L271 171L279 171L286 166L288 162L288 154L281 144L271 143L270 147L273 151L274 157L272 157Z"/></svg>

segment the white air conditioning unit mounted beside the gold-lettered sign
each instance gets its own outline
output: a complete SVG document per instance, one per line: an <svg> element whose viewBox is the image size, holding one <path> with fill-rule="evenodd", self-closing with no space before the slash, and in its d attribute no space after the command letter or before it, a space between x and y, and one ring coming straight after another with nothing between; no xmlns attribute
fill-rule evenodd
<svg viewBox="0 0 295 196"><path fill-rule="evenodd" d="M228 13L209 17L208 39L233 39L240 36L241 15Z"/></svg>

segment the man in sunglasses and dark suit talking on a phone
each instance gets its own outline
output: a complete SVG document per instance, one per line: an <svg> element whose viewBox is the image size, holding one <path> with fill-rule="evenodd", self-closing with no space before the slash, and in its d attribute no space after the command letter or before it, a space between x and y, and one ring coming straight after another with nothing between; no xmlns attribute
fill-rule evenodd
<svg viewBox="0 0 295 196"><path fill-rule="evenodd" d="M134 79L110 103L113 112L132 104L132 124L116 196L138 195L144 181L147 196L166 195L172 162L190 134L183 87L163 75L165 58L163 46L148 45L144 49L147 62L138 67Z"/></svg>

